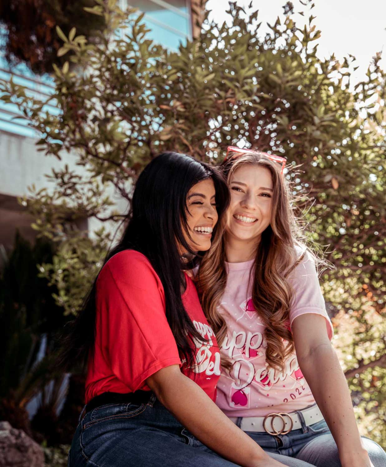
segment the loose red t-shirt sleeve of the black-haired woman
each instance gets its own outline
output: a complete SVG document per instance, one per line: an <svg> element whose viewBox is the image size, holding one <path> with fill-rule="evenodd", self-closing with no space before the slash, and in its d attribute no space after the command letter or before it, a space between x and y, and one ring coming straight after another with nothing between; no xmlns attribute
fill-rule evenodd
<svg viewBox="0 0 386 467"><path fill-rule="evenodd" d="M97 344L133 392L161 368L181 365L160 278L144 255L126 250L113 256L98 276L96 299Z"/></svg>

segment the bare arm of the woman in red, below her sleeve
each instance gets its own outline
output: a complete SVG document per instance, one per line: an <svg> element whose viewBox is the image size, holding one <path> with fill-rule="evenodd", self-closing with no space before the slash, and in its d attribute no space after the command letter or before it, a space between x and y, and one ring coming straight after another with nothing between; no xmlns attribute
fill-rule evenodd
<svg viewBox="0 0 386 467"><path fill-rule="evenodd" d="M213 451L242 467L266 465L268 455L226 417L203 389L184 375L176 379L178 386L153 385L152 389L182 425Z"/></svg>

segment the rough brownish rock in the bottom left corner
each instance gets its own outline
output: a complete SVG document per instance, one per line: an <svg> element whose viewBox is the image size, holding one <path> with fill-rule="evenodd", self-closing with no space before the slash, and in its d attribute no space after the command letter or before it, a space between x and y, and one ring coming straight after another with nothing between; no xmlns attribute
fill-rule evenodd
<svg viewBox="0 0 386 467"><path fill-rule="evenodd" d="M22 430L0 422L0 467L44 467L43 450Z"/></svg>

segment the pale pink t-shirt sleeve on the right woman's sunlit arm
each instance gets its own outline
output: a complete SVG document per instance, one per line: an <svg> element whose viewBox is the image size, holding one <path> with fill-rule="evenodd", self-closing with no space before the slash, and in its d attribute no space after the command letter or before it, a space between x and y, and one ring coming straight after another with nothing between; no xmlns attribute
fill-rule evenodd
<svg viewBox="0 0 386 467"><path fill-rule="evenodd" d="M326 319L328 337L334 335L333 326L326 311L326 304L320 290L319 278L312 256L306 252L302 261L290 273L288 280L294 290L290 310L290 325L295 318L306 313L314 313Z"/></svg>

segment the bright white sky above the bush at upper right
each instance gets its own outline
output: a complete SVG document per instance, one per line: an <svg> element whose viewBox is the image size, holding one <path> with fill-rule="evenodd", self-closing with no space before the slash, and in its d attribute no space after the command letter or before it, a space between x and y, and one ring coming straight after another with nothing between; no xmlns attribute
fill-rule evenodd
<svg viewBox="0 0 386 467"><path fill-rule="evenodd" d="M250 0L236 0L236 3L248 10ZM262 21L262 35L268 31L267 21L274 23L277 16L284 18L283 6L286 0L252 0L252 11L259 10L258 21ZM292 0L295 11L305 11L294 19L299 28L307 21L309 14L299 0ZM311 11L316 19L312 24L321 30L318 56L342 58L348 53L357 58L351 84L364 79L371 57L376 52L384 51L381 64L386 68L386 0L314 0ZM218 23L229 21L227 0L209 0L207 9L212 10L211 17Z"/></svg>

